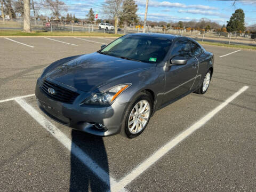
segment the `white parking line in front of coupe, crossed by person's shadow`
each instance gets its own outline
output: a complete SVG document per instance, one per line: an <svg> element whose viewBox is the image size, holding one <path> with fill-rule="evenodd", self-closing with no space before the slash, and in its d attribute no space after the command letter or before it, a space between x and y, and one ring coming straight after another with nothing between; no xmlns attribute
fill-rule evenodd
<svg viewBox="0 0 256 192"><path fill-rule="evenodd" d="M115 185L117 181L109 176L97 163L95 163L84 151L72 142L56 126L41 115L34 107L30 106L24 99L15 99L19 105L27 111L40 125L42 125L53 137L62 143L73 155L75 155L84 165L86 165L95 175L99 177L107 186ZM72 146L72 148L71 148ZM125 188L119 188L119 191L126 191Z"/></svg>

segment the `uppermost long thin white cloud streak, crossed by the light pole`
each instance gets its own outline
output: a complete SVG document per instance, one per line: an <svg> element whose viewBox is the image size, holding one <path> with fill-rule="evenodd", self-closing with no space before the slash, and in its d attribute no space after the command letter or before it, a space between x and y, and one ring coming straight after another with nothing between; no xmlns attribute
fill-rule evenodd
<svg viewBox="0 0 256 192"><path fill-rule="evenodd" d="M141 6L146 5L146 0L135 0L135 2ZM171 3L167 1L163 1L163 2L149 1L148 4L149 6L153 6L153 7L178 7L183 9L193 8L193 9L201 9L201 10L218 10L217 7L211 7L208 5L185 5L182 3Z"/></svg>

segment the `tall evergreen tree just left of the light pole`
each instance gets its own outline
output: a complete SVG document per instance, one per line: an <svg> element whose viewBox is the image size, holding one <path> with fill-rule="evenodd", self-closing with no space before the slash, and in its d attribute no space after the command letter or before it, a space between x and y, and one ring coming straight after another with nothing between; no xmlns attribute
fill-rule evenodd
<svg viewBox="0 0 256 192"><path fill-rule="evenodd" d="M121 23L125 23L130 26L132 22L138 22L138 15L136 14L138 5L133 0L124 0L122 6L122 12L119 17Z"/></svg>

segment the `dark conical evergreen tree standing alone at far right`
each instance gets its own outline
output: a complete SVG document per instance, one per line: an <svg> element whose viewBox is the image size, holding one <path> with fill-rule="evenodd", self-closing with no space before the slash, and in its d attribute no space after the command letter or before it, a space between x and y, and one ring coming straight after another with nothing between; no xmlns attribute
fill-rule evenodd
<svg viewBox="0 0 256 192"><path fill-rule="evenodd" d="M235 13L232 14L229 21L227 21L227 31L236 32L236 31L245 31L244 26L244 11L242 9L237 9Z"/></svg>

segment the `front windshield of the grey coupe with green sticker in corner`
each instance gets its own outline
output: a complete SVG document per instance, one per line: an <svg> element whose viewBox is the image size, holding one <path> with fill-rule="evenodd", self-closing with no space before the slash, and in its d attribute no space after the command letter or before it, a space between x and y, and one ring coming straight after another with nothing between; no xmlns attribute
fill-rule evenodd
<svg viewBox="0 0 256 192"><path fill-rule="evenodd" d="M163 61L171 44L172 41L166 38L126 35L110 43L99 53L123 59L159 63Z"/></svg>

